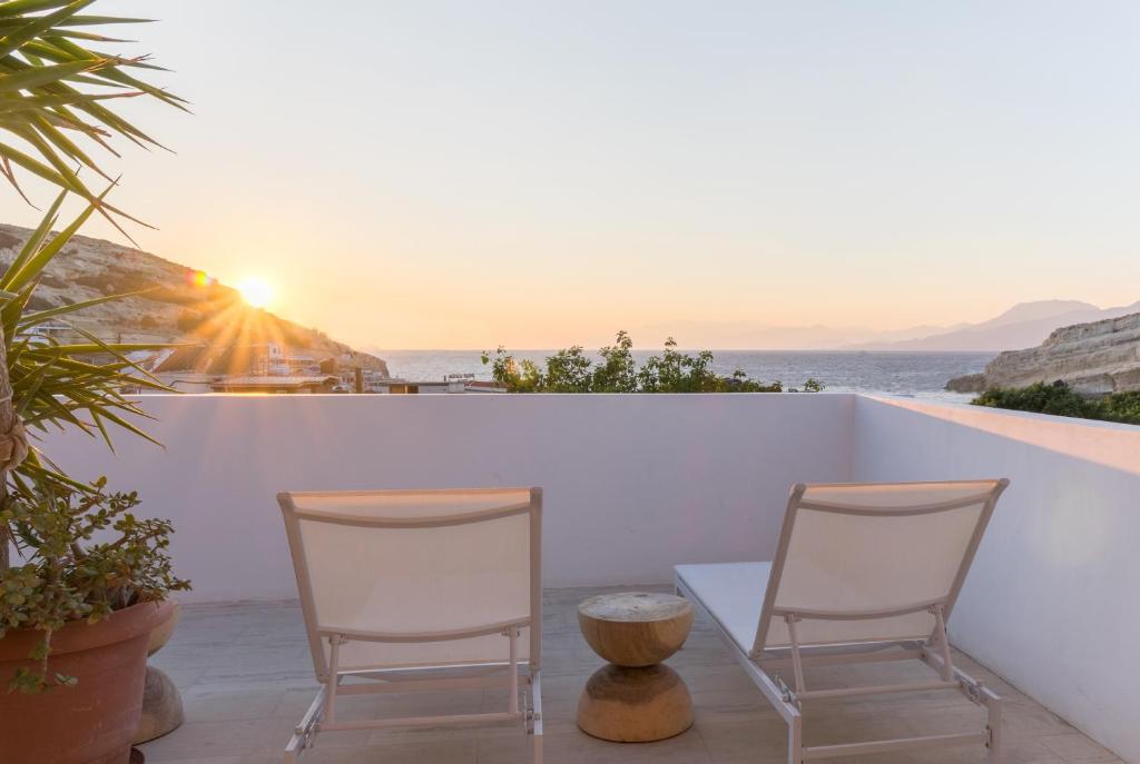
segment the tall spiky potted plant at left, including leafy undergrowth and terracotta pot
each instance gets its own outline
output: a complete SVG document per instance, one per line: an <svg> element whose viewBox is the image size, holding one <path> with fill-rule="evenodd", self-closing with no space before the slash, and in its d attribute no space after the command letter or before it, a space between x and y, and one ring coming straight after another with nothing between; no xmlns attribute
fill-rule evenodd
<svg viewBox="0 0 1140 764"><path fill-rule="evenodd" d="M6 764L125 764L138 724L150 631L185 589L166 554L171 527L140 519L133 494L64 474L34 436L79 428L109 445L113 428L146 434L125 389L162 386L127 354L141 345L64 344L38 328L115 297L31 307L44 266L92 215L128 217L96 194L80 169L109 178L91 147L109 139L154 143L113 99L181 99L132 71L146 58L101 52L117 42L90 28L142 20L82 15L93 0L0 3L0 174L27 200L22 178L59 196L10 263L0 268L0 759ZM90 28L84 28L90 27ZM88 48L85 46L92 46ZM84 143L87 147L84 148ZM111 187L114 182L111 182ZM58 233L64 203L85 202ZM28 202L31 204L31 202ZM133 219L131 219L133 220ZM120 229L121 230L121 229Z"/></svg>

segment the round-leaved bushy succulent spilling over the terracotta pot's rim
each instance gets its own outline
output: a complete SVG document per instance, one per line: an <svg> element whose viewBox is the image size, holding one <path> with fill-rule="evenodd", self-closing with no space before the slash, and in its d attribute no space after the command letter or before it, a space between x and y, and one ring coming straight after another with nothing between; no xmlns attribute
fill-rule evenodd
<svg viewBox="0 0 1140 764"><path fill-rule="evenodd" d="M83 491L36 485L10 496L0 510L0 525L28 551L24 565L0 570L0 639L10 629L43 632L31 656L40 662L39 671L18 669L9 690L39 692L74 683L48 671L51 634L66 623L96 623L189 588L171 573L170 523L136 518L130 510L138 496L108 494L105 485L103 478ZM92 543L96 535L99 541Z"/></svg>

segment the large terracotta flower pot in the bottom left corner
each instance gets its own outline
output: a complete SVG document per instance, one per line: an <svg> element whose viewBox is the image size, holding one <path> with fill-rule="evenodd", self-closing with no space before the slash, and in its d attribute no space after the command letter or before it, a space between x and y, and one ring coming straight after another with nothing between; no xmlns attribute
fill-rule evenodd
<svg viewBox="0 0 1140 764"><path fill-rule="evenodd" d="M142 710L147 644L169 619L172 602L117 610L95 625L70 623L51 638L49 669L75 676L75 687L39 695L7 692L16 668L41 632L0 640L0 747L5 764L127 764Z"/></svg>

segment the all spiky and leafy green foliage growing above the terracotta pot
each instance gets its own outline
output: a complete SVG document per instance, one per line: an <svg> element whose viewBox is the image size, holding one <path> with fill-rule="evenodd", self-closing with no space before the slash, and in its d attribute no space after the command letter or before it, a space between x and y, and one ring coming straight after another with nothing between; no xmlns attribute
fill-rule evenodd
<svg viewBox="0 0 1140 764"><path fill-rule="evenodd" d="M8 685L25 692L74 681L49 672L47 663L52 633L68 621L93 623L115 608L188 586L171 573L169 523L137 519L130 512L133 494L107 494L101 478L74 479L25 435L25 428L34 434L76 427L109 446L109 427L119 427L149 439L131 421L145 412L123 391L162 387L127 358L153 346L108 344L74 326L83 342L64 344L36 331L115 296L28 309L44 268L92 214L116 228L121 219L135 220L106 202L115 181L90 151L117 156L109 143L115 135L140 146L157 143L113 110L114 99L184 104L129 74L158 68L145 57L96 48L120 41L91 27L144 19L81 15L93 1L0 0L0 174L28 204L19 174L58 188L39 227L0 274L0 639L11 629L42 633L31 656L39 668L18 669ZM105 179L105 190L93 192L81 171ZM85 208L52 233L70 196L84 199ZM97 533L116 537L95 542ZM23 557L15 567L13 543Z"/></svg>

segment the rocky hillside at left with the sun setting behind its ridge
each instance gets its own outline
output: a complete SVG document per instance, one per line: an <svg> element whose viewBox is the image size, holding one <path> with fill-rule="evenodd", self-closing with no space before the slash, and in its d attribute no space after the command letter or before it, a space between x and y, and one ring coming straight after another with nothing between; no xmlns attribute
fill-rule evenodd
<svg viewBox="0 0 1140 764"><path fill-rule="evenodd" d="M11 263L32 231L0 223L0 263ZM383 360L356 353L324 332L247 306L238 293L197 271L146 252L83 236L74 237L48 265L31 307L44 310L104 295L146 290L68 317L68 321L104 340L180 343L198 346L181 353L187 370L243 372L219 368L234 347L264 343L287 352L336 358L384 375ZM169 367L168 367L169 368Z"/></svg>

